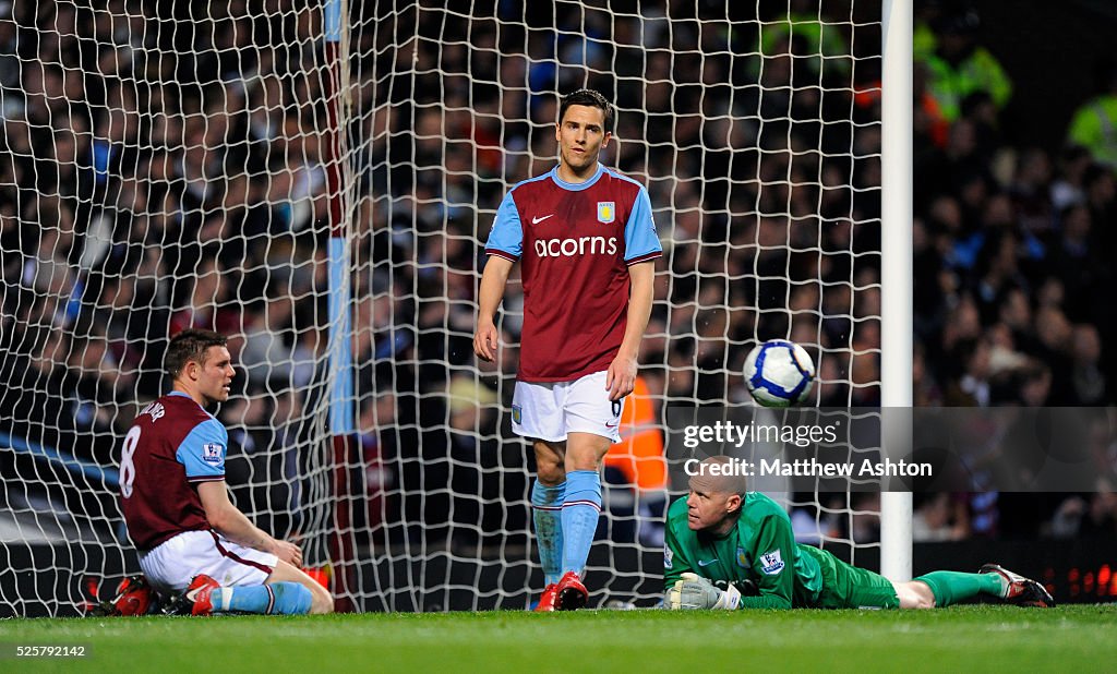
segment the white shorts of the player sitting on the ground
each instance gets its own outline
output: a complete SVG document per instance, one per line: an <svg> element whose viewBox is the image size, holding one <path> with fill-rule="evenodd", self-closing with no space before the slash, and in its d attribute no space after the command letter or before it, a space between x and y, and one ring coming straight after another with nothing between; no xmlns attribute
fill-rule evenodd
<svg viewBox="0 0 1117 674"><path fill-rule="evenodd" d="M140 568L160 593L181 593L198 574L221 587L264 585L278 558L226 539L214 531L184 531L140 553Z"/></svg>

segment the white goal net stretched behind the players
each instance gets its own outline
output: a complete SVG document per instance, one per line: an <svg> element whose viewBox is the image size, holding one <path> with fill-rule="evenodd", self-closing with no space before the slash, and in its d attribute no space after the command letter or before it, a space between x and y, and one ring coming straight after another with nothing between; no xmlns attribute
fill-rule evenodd
<svg viewBox="0 0 1117 674"><path fill-rule="evenodd" d="M0 3L0 614L139 571L120 447L187 327L231 338L236 503L343 608L528 606L516 278L496 364L470 345L496 208L575 88L615 102L602 161L665 248L591 605L661 596L667 407L745 402L757 341L808 348L811 403L879 404L877 2L325 4ZM873 555L872 494L781 498Z"/></svg>

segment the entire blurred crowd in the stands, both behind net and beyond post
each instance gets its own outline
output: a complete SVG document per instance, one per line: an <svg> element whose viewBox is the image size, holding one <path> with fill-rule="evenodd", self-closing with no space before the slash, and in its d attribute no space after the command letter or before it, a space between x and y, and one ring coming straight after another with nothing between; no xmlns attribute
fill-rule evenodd
<svg viewBox="0 0 1117 674"><path fill-rule="evenodd" d="M522 297L513 279L495 366L471 354L474 301L500 199L553 166L556 94L583 86L617 103L603 161L648 186L665 245L642 350L657 414L743 402L744 357L773 337L815 357L814 403L879 403L880 17L865 13L879 8L350 3L350 124L331 134L308 4L0 2L0 405L15 411L0 431L112 465L166 385L168 337L214 328L242 367L220 411L241 504L277 533L321 526L337 145L355 185L353 523L393 542L526 543L529 459L502 414ZM928 4L917 403L1106 404L1113 165L1004 137L1011 77L972 17ZM614 503L629 479L612 475ZM1044 526L1092 513L1082 499ZM975 500L951 501L963 535L983 532Z"/></svg>

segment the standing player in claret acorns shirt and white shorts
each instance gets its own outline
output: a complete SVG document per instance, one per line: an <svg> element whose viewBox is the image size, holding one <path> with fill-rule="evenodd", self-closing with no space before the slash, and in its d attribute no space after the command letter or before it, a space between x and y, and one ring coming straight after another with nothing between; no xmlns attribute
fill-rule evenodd
<svg viewBox="0 0 1117 674"><path fill-rule="evenodd" d="M662 254L648 191L598 163L612 123L598 92L563 97L558 165L508 192L485 245L479 358L495 357L494 317L517 260L524 285L512 427L535 450L533 520L546 577L536 610L589 599L581 576L601 512L601 461L620 440Z"/></svg>

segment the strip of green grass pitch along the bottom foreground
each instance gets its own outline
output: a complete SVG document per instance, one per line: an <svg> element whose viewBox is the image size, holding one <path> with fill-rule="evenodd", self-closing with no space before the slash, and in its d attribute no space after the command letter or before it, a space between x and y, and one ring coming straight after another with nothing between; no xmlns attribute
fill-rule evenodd
<svg viewBox="0 0 1117 674"><path fill-rule="evenodd" d="M89 655L13 659L15 644ZM0 646L3 672L1101 672L1117 605L13 619Z"/></svg>

